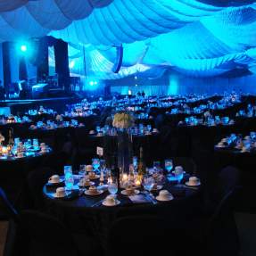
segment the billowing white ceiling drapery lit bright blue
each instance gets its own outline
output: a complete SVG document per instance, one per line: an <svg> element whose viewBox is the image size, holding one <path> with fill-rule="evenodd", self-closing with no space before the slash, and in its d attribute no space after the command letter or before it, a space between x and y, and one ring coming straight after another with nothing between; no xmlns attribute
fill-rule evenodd
<svg viewBox="0 0 256 256"><path fill-rule="evenodd" d="M70 54L74 70L83 66L85 52L87 72L99 78L145 71L152 76L150 70L161 74L166 69L195 77L235 69L253 71L254 2L0 0L0 42L45 35L62 38L78 45L76 57ZM119 45L124 47L123 64L114 74L116 52L112 46Z"/></svg>

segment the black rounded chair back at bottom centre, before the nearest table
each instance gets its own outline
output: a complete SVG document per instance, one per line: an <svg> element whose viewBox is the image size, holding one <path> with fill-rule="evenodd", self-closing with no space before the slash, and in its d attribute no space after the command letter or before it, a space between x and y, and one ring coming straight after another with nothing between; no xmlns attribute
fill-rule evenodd
<svg viewBox="0 0 256 256"><path fill-rule="evenodd" d="M145 253L169 253L175 255L170 244L172 234L161 218L132 216L113 222L107 243L107 255L146 255ZM127 254L128 255L128 254Z"/></svg>

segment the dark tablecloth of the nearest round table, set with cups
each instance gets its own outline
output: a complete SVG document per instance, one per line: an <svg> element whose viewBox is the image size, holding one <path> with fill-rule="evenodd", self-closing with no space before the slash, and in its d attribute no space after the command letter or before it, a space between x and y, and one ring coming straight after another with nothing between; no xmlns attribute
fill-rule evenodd
<svg viewBox="0 0 256 256"><path fill-rule="evenodd" d="M173 221L175 225L180 223L179 221L189 221L200 208L200 187L176 187L167 182L162 189L168 189L174 196L169 202L158 202L155 199L152 202L146 199L146 202L137 203L132 202L127 195L118 193L120 205L107 207L102 204L103 199L109 194L107 190L96 196L86 195L79 190L77 183L78 179L75 179L75 189L65 199L54 199L56 186L45 185L43 193L46 208L62 219L71 230L86 230L88 235L94 235L103 247L106 245L111 223L117 218L145 214L161 215ZM153 192L153 195L156 194L158 192Z"/></svg>

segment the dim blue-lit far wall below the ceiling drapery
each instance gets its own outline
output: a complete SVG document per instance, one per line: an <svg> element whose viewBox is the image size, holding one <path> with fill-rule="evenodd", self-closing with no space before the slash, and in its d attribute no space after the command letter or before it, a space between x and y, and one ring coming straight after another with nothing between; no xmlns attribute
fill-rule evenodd
<svg viewBox="0 0 256 256"><path fill-rule="evenodd" d="M256 95L256 75L240 78L192 78L178 73L166 73L164 77L155 80L144 79L140 82L135 81L134 78L110 81L111 93L127 95L128 90L131 90L132 94L136 95L138 91L144 90L146 95L213 95L235 90Z"/></svg>

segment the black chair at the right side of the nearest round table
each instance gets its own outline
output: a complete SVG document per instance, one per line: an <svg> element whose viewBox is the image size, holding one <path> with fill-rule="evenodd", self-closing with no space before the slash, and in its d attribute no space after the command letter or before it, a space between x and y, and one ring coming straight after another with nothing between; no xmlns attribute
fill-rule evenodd
<svg viewBox="0 0 256 256"><path fill-rule="evenodd" d="M189 253L196 244L197 255L238 255L239 239L234 219L234 202L238 192L239 171L228 167L219 174L215 199L219 199L211 215L199 216L186 224L183 230L178 230L180 236L186 240L186 247L182 247L182 254ZM216 202L214 202L216 203ZM209 213L209 212L208 212Z"/></svg>

